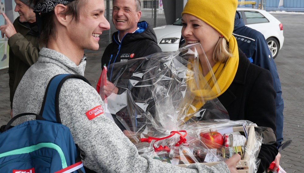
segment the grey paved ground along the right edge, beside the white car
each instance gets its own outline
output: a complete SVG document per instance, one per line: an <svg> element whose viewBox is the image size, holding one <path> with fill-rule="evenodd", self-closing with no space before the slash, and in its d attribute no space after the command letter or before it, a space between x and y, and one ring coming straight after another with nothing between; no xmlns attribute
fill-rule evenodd
<svg viewBox="0 0 304 173"><path fill-rule="evenodd" d="M304 172L304 20L303 14L273 13L283 24L284 44L275 58L284 99L284 141L280 165L288 172ZM284 142L283 141L283 142Z"/></svg>

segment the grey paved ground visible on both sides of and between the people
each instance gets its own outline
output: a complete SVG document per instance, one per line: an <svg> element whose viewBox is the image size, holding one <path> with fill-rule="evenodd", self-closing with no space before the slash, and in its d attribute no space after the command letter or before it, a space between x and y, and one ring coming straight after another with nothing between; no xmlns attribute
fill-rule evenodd
<svg viewBox="0 0 304 173"><path fill-rule="evenodd" d="M282 84L284 99L284 141L292 139L292 144L282 151L281 167L287 172L304 172L304 20L303 14L272 13L283 24L284 45L275 58ZM153 18L146 15L142 20L154 24ZM115 31L112 22L111 32ZM165 25L165 20L158 19L158 26ZM113 29L114 28L114 29ZM85 50L88 57L85 77L92 86L96 86L101 73L101 57L109 43L109 35L100 36L98 51ZM9 75L8 70L0 70L0 125L10 120ZM283 141L283 142L284 142Z"/></svg>

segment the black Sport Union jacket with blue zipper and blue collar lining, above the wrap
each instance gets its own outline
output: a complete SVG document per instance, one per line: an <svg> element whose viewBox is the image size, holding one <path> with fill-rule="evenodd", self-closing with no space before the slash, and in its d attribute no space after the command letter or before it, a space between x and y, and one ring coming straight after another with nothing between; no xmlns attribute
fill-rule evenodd
<svg viewBox="0 0 304 173"><path fill-rule="evenodd" d="M112 43L105 48L102 55L102 66L162 52L157 45L157 38L152 27L145 21L138 22L137 26L139 29L120 38L121 42L118 39L119 31L113 33ZM108 71L110 72L111 69Z"/></svg>

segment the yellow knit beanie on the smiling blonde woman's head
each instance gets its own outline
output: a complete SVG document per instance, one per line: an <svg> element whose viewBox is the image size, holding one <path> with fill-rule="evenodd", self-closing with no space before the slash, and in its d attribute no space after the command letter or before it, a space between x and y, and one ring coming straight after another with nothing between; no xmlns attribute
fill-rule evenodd
<svg viewBox="0 0 304 173"><path fill-rule="evenodd" d="M190 14L216 29L229 42L237 0L188 0L181 15Z"/></svg>

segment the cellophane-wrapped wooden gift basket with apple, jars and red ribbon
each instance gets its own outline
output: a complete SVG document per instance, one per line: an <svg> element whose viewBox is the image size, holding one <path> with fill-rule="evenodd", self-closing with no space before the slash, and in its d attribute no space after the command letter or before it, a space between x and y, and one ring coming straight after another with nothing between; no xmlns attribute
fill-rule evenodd
<svg viewBox="0 0 304 173"><path fill-rule="evenodd" d="M118 92L101 94L106 114L140 155L177 166L212 166L238 153L238 171L256 172L262 130L250 121L229 120L211 66L202 69L201 63L209 64L206 56L199 59L202 52L195 44L110 64L101 87L107 78Z"/></svg>

